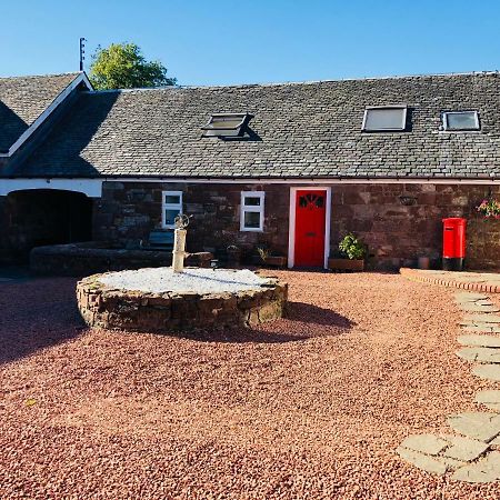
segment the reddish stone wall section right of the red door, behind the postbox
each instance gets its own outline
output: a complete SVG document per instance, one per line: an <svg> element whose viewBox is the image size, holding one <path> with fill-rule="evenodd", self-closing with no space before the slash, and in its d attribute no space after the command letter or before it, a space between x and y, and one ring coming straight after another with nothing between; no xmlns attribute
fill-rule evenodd
<svg viewBox="0 0 500 500"><path fill-rule="evenodd" d="M473 269L500 267L500 238L494 221L476 212L499 187L451 184L368 184L332 187L331 244L348 231L359 234L379 269L411 267L420 256L439 266L442 218L468 219L467 263Z"/></svg>

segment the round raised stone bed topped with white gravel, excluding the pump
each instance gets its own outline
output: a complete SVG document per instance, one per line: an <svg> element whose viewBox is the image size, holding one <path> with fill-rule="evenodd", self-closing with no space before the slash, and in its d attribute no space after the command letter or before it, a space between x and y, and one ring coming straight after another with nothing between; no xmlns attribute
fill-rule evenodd
<svg viewBox="0 0 500 500"><path fill-rule="evenodd" d="M171 268L107 272L77 284L87 324L168 333L253 327L283 317L288 284L249 270Z"/></svg>

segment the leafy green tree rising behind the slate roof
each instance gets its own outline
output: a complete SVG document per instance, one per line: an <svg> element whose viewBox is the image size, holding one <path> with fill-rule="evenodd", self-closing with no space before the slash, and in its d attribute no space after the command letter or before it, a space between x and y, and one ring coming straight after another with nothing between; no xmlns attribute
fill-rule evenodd
<svg viewBox="0 0 500 500"><path fill-rule="evenodd" d="M90 81L97 90L134 89L174 86L176 78L167 77L167 68L159 61L147 61L136 43L111 43L98 47L90 64Z"/></svg>

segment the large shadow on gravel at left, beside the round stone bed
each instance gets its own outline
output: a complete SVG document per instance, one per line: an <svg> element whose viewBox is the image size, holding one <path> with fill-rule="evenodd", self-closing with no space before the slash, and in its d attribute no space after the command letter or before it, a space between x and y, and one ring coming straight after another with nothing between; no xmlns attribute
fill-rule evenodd
<svg viewBox="0 0 500 500"><path fill-rule="evenodd" d="M0 286L0 364L81 334L74 286L70 278Z"/></svg>

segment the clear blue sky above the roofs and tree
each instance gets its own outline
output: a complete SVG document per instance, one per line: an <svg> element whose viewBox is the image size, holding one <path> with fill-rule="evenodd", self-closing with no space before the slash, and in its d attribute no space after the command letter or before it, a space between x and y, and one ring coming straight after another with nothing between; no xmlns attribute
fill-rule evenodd
<svg viewBox="0 0 500 500"><path fill-rule="evenodd" d="M0 76L78 70L133 41L181 84L500 69L498 0L2 1Z"/></svg>

